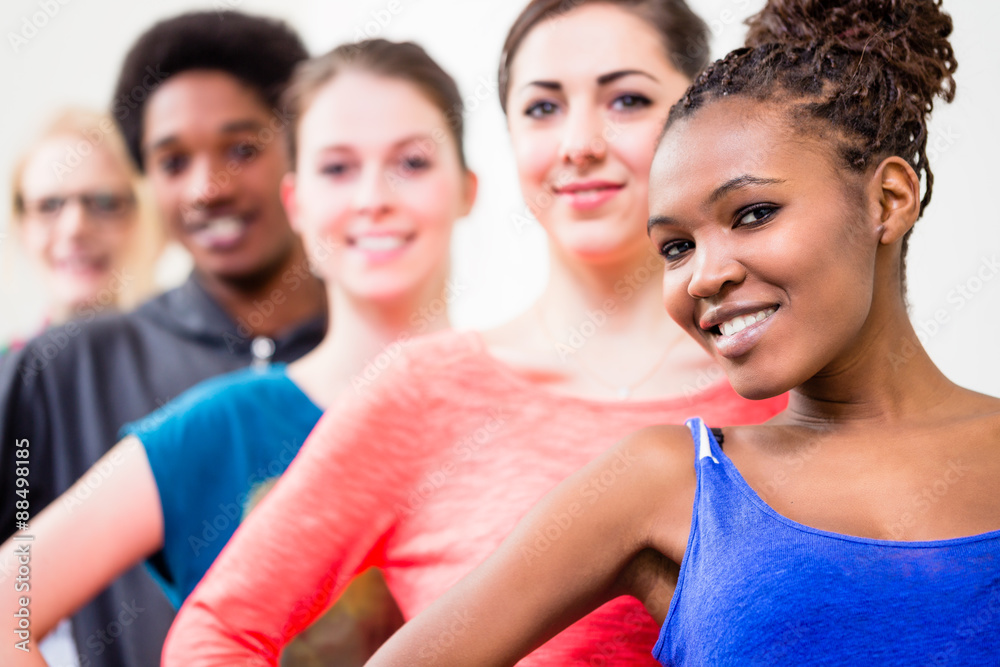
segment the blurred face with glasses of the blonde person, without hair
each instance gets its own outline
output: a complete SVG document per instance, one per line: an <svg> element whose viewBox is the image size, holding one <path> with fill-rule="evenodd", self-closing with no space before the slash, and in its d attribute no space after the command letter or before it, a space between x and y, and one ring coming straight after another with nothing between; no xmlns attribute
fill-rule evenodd
<svg viewBox="0 0 1000 667"><path fill-rule="evenodd" d="M25 163L20 193L21 232L60 307L93 302L127 261L137 227L132 184L114 154L92 146L74 168L66 155L89 144L55 136ZM59 166L62 165L62 169Z"/></svg>

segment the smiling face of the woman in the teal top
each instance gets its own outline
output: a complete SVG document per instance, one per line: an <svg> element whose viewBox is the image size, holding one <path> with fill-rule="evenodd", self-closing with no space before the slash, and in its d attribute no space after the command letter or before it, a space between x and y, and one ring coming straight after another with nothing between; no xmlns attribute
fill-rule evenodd
<svg viewBox="0 0 1000 667"><path fill-rule="evenodd" d="M388 299L443 280L474 197L444 114L411 83L347 70L302 116L285 201L318 270L349 294Z"/></svg>

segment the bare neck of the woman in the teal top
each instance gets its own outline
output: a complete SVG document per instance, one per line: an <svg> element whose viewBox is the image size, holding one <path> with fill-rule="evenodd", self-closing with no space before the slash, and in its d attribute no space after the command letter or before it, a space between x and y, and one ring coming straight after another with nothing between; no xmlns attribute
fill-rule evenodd
<svg viewBox="0 0 1000 667"><path fill-rule="evenodd" d="M322 408L342 391L367 386L374 381L370 376L378 375L369 365L383 354L395 359L409 338L451 326L445 289L444 271L387 301L366 300L332 286L330 330L316 349L289 366L289 375Z"/></svg>

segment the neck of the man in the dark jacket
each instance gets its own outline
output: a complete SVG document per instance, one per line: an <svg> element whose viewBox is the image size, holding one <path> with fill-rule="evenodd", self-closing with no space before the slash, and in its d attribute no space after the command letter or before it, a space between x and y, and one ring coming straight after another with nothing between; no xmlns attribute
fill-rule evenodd
<svg viewBox="0 0 1000 667"><path fill-rule="evenodd" d="M315 317L324 307L323 282L309 271L309 260L298 241L283 260L254 276L227 280L198 271L198 278L216 303L252 336L273 338Z"/></svg>

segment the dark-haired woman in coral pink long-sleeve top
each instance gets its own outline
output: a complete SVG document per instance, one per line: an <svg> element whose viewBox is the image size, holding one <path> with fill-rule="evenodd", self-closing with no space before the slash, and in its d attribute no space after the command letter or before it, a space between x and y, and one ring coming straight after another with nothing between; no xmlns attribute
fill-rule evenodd
<svg viewBox="0 0 1000 667"><path fill-rule="evenodd" d="M676 0L528 5L500 90L522 191L549 237L544 293L498 330L415 342L328 411L188 598L164 664L277 664L369 566L410 618L630 431L691 414L756 423L784 407L737 396L670 321L646 238L656 138L705 63L705 33ZM595 480L581 507L611 484ZM550 546L541 536L524 558ZM455 631L472 620L456 617ZM524 664L655 664L656 630L620 598Z"/></svg>

